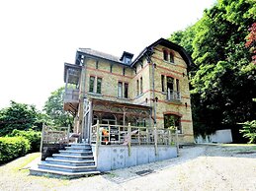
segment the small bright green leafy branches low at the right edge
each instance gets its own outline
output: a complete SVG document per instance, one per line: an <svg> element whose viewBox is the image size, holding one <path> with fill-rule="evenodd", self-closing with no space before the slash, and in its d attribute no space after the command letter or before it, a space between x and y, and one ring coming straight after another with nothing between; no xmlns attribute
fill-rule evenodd
<svg viewBox="0 0 256 191"><path fill-rule="evenodd" d="M249 143L256 143L256 120L247 121L242 123L243 128L240 132L243 134L243 137L249 139Z"/></svg>

